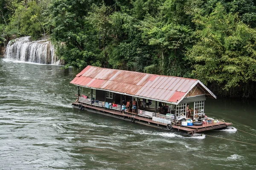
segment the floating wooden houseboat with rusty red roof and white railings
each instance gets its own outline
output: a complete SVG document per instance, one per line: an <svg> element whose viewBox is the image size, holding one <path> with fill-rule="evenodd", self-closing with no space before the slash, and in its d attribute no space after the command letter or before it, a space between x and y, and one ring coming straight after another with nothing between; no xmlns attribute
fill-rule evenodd
<svg viewBox="0 0 256 170"><path fill-rule="evenodd" d="M194 135L232 125L207 118L206 98L216 96L198 79L87 66L70 82L78 86L73 108ZM90 95L83 89L91 89Z"/></svg>

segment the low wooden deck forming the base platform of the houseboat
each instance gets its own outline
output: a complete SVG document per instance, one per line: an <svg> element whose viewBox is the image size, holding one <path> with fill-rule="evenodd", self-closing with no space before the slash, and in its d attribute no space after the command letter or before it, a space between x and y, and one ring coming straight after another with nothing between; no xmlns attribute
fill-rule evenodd
<svg viewBox="0 0 256 170"><path fill-rule="evenodd" d="M118 115L118 116L124 116L127 118L131 118L132 116L134 116L134 122L138 122L144 125L148 125L148 126L152 126L155 125L156 127L165 127L166 128L166 124L164 123L160 123L160 122L154 122L152 119L147 118L147 117L142 117L142 116L137 116L137 114L135 113L131 113L131 112L125 112L122 113L121 111L116 111L116 110L111 110L111 109L107 109L107 108L103 108L103 107L97 107L97 106L92 106L92 105L87 105L84 103L73 103L72 105L76 105L78 106L79 104L82 104L84 106L84 108L87 109L93 109L96 111L100 111L103 113L108 113L108 114L113 114L113 115ZM108 116L108 115L107 115ZM206 131L206 130L212 130L212 129L219 129L219 128L224 128L227 126L232 125L232 123L226 123L226 122L212 122L212 124L204 124L201 126L182 126L180 124L175 124L172 125L172 127L174 129L179 130L183 130L186 131L188 134L193 134L193 133L198 133L198 132L202 132L202 131Z"/></svg>

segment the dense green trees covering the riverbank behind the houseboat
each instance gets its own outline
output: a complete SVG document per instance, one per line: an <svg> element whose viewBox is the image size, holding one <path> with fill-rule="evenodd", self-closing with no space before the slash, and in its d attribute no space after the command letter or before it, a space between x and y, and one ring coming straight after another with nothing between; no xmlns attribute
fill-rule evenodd
<svg viewBox="0 0 256 170"><path fill-rule="evenodd" d="M200 79L256 97L253 0L0 0L0 43L44 32L66 67Z"/></svg>

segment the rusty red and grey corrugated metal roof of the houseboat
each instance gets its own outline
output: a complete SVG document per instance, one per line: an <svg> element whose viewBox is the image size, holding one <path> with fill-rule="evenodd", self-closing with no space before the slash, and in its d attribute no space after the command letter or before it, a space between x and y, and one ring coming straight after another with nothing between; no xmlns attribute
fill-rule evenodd
<svg viewBox="0 0 256 170"><path fill-rule="evenodd" d="M99 68L90 65L77 74L70 83L172 104L178 104L195 85L199 84L208 92L206 95L216 98L197 79Z"/></svg>

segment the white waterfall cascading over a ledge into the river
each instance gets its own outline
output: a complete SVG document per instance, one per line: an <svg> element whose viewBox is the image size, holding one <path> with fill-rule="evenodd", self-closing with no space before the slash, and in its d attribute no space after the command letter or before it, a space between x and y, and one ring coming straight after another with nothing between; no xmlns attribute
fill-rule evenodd
<svg viewBox="0 0 256 170"><path fill-rule="evenodd" d="M31 41L31 37L12 40L6 47L6 58L41 64L63 65L58 60L50 41Z"/></svg>

